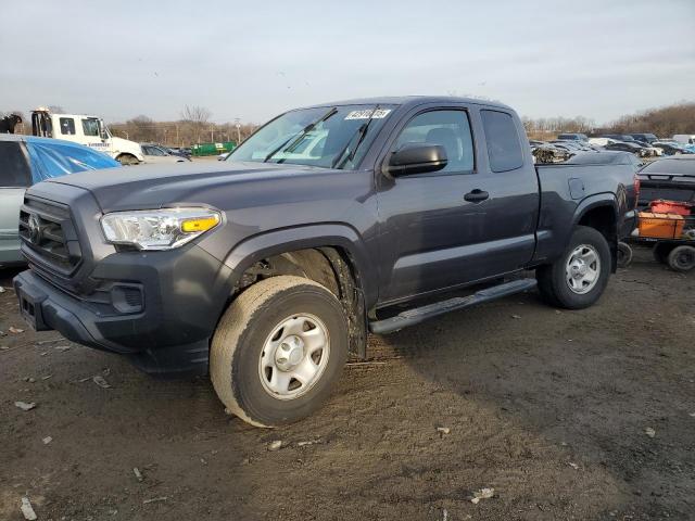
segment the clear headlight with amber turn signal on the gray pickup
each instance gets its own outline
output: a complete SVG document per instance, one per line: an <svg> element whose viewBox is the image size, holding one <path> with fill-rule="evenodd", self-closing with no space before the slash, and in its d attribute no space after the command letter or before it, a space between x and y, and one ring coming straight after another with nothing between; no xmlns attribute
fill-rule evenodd
<svg viewBox="0 0 695 521"><path fill-rule="evenodd" d="M114 212L101 218L106 241L138 250L173 250L212 230L222 221L208 208L163 208Z"/></svg>

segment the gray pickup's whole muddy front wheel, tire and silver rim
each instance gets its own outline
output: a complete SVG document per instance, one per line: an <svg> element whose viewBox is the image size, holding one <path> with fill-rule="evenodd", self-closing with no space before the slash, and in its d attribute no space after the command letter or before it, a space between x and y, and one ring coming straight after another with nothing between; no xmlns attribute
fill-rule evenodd
<svg viewBox="0 0 695 521"><path fill-rule="evenodd" d="M256 427L279 427L325 402L348 351L348 319L330 291L302 277L273 277L223 315L210 373L229 411Z"/></svg>

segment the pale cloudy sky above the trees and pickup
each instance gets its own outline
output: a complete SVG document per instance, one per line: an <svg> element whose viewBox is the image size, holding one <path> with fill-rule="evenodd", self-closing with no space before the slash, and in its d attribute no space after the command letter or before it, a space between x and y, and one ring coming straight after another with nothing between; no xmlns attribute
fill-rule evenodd
<svg viewBox="0 0 695 521"><path fill-rule="evenodd" d="M263 123L372 96L502 101L530 117L695 101L695 0L0 0L0 111Z"/></svg>

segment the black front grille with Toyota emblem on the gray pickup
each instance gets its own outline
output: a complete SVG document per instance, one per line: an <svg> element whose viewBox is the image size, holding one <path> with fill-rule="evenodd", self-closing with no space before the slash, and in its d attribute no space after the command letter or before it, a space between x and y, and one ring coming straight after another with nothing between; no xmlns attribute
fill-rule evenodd
<svg viewBox="0 0 695 521"><path fill-rule="evenodd" d="M29 262L66 276L81 259L70 208L60 203L27 195L20 211L20 238Z"/></svg>

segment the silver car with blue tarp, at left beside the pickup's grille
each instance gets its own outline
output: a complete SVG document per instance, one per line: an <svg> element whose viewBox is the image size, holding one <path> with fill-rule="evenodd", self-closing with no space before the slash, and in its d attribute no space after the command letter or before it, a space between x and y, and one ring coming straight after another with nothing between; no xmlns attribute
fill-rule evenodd
<svg viewBox="0 0 695 521"><path fill-rule="evenodd" d="M121 166L121 163L81 144L33 136L0 135L0 266L23 262L17 220L28 187L67 174L114 166ZM54 255L60 256L61 253L56 251Z"/></svg>

